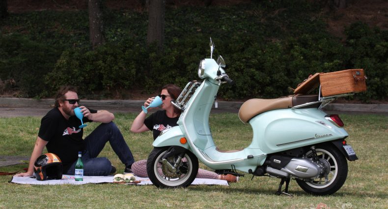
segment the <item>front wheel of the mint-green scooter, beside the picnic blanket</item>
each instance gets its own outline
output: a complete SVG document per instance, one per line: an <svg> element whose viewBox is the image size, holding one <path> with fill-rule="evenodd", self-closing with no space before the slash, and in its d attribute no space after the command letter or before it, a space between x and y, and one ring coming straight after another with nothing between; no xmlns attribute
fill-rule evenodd
<svg viewBox="0 0 388 209"><path fill-rule="evenodd" d="M174 165L178 160L178 155L163 159L168 147L154 148L147 159L147 174L151 182L162 188L187 187L195 179L198 173L198 159L188 150L182 158L176 170L170 165Z"/></svg>

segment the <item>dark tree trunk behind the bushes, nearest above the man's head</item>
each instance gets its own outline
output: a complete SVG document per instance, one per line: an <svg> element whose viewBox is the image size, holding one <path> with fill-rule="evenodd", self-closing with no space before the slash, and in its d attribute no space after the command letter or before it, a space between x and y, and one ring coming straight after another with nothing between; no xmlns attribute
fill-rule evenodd
<svg viewBox="0 0 388 209"><path fill-rule="evenodd" d="M92 48L104 43L101 0L89 0L89 35Z"/></svg>

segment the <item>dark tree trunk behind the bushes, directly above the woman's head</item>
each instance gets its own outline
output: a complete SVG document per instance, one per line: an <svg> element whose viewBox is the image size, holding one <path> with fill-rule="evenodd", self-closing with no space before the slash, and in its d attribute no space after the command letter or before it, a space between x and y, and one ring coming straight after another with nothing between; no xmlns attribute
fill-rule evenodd
<svg viewBox="0 0 388 209"><path fill-rule="evenodd" d="M148 7L147 44L156 42L158 50L163 50L165 32L165 0L150 0Z"/></svg>

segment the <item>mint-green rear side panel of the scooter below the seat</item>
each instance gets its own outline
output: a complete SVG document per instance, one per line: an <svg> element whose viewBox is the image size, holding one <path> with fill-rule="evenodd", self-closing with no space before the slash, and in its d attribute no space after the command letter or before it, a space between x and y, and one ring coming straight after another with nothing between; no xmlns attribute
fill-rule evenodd
<svg viewBox="0 0 388 209"><path fill-rule="evenodd" d="M252 118L253 140L249 148L274 153L348 136L343 128L325 119L326 114L316 108L280 109Z"/></svg>

